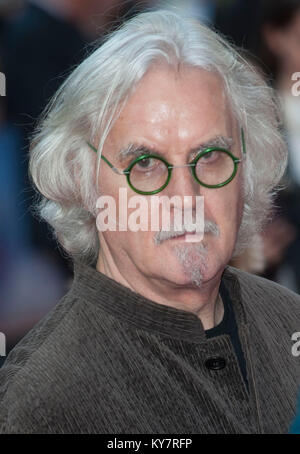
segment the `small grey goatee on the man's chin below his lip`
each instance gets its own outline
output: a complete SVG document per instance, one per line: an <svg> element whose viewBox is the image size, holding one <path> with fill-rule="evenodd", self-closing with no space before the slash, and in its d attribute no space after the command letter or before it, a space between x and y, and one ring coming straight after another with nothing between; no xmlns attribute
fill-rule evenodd
<svg viewBox="0 0 300 454"><path fill-rule="evenodd" d="M197 287L202 286L207 267L207 248L203 243L176 245L174 252L183 268L185 276Z"/></svg>

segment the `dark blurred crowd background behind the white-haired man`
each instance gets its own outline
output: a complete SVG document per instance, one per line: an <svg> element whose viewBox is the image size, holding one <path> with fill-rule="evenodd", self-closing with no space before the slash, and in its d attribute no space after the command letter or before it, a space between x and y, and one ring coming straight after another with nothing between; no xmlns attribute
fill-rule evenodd
<svg viewBox="0 0 300 454"><path fill-rule="evenodd" d="M27 165L42 110L95 39L138 12L192 15L243 48L280 96L289 147L273 219L232 265L300 293L300 0L0 0L0 332L6 353L67 292L72 264L32 211ZM300 78L300 74L299 74ZM299 88L300 95L300 88ZM4 361L0 356L0 366Z"/></svg>

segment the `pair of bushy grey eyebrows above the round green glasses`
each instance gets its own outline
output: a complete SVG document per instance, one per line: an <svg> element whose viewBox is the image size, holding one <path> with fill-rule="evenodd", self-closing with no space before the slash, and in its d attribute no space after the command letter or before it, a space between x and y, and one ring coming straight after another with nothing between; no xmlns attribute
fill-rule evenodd
<svg viewBox="0 0 300 454"><path fill-rule="evenodd" d="M233 139L231 137L225 137L225 136L215 136L205 142L200 143L196 147L193 147L189 155L192 154L197 154L200 153L201 151L207 149L207 148L225 148L225 149L230 149L233 146ZM126 147L122 148L118 153L117 153L117 159L120 162L125 161L128 157L138 157L142 156L144 154L155 154L158 156L164 156L163 153L160 151L156 150L153 147L147 147L145 145L138 145L135 143L130 143Z"/></svg>

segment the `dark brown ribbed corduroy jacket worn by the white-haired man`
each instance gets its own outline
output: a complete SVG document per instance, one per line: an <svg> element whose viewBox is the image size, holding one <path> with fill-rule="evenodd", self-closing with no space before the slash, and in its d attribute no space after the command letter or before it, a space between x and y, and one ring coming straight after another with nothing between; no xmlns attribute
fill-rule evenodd
<svg viewBox="0 0 300 454"><path fill-rule="evenodd" d="M227 267L250 385L228 335L75 263L68 294L0 369L0 433L287 433L300 297ZM210 370L205 361L226 359Z"/></svg>

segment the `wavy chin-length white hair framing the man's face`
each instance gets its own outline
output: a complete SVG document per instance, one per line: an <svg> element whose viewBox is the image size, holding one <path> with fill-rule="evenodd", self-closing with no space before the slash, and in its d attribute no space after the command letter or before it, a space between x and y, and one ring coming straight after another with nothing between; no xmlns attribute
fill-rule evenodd
<svg viewBox="0 0 300 454"><path fill-rule="evenodd" d="M280 109L273 89L211 28L159 10L141 13L110 34L66 79L34 135L29 172L42 194L34 209L73 258L95 262L100 155L134 88L156 63L219 74L247 148L244 212L234 255L261 231L287 165ZM86 141L100 139L97 160ZM97 170L97 172L96 172Z"/></svg>

